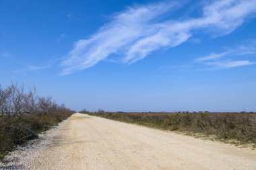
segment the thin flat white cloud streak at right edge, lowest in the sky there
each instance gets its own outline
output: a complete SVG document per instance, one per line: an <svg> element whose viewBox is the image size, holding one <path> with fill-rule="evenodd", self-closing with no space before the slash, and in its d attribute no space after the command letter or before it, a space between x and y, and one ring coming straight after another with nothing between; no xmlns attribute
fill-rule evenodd
<svg viewBox="0 0 256 170"><path fill-rule="evenodd" d="M232 67L241 67L246 65L255 65L256 62L251 62L249 60L228 60L224 62L208 62L208 65L213 65L214 67L228 69Z"/></svg>

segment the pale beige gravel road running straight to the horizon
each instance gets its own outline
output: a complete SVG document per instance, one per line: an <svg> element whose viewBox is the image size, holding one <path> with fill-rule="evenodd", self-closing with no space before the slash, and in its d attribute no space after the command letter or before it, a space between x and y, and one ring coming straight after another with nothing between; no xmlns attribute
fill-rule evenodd
<svg viewBox="0 0 256 170"><path fill-rule="evenodd" d="M7 160L2 169L256 169L250 148L78 113Z"/></svg>

